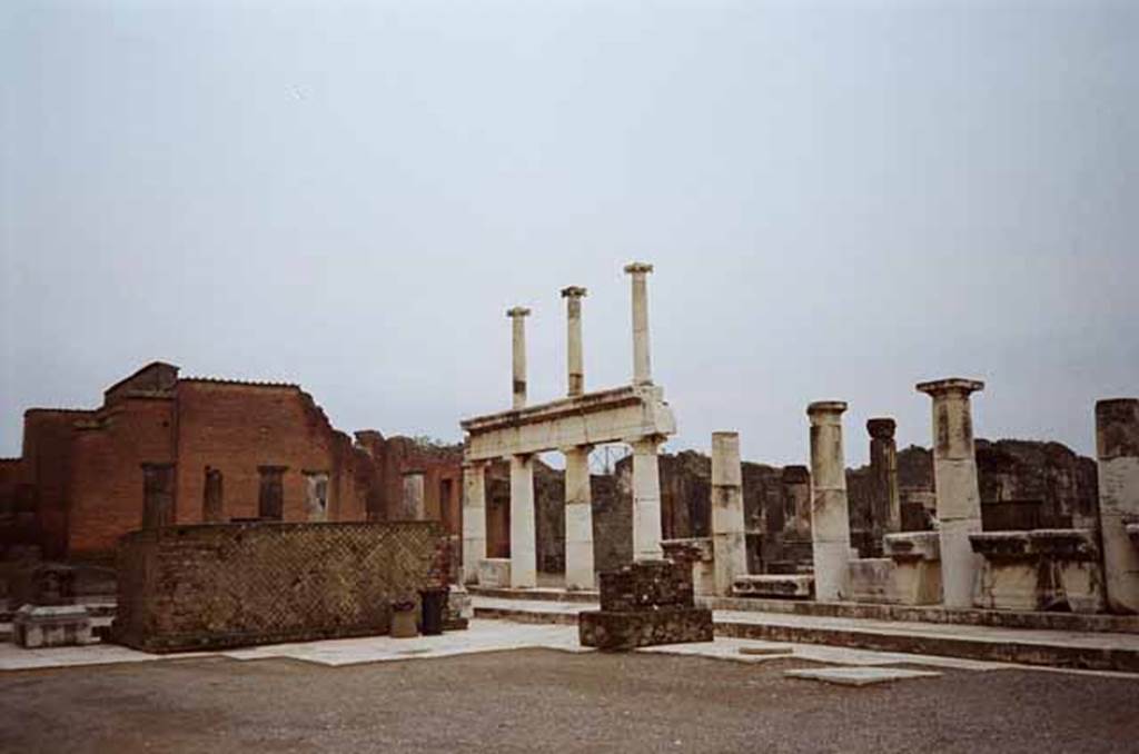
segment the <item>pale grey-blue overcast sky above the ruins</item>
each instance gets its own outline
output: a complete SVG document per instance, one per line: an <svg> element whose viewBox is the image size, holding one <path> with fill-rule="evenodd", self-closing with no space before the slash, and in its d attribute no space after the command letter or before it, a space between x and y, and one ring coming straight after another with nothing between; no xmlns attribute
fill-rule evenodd
<svg viewBox="0 0 1139 754"><path fill-rule="evenodd" d="M0 7L0 454L151 360L458 440L631 375L631 260L680 434L805 462L850 402L929 444L1093 452L1139 395L1139 3Z"/></svg>

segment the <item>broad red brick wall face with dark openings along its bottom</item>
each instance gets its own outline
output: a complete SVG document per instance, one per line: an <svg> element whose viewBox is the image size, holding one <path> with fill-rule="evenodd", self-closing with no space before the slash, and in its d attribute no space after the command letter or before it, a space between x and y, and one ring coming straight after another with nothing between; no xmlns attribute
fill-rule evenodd
<svg viewBox="0 0 1139 754"><path fill-rule="evenodd" d="M303 522L304 472L329 474L329 518L362 519L344 436L295 386L181 380L178 396L178 522L202 521L206 466L220 469L227 518L257 516L259 466L285 466L284 519Z"/></svg>

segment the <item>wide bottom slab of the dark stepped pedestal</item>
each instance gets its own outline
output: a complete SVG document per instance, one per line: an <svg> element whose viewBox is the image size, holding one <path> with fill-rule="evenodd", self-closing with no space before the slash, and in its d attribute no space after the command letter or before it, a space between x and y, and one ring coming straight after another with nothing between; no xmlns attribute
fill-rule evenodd
<svg viewBox="0 0 1139 754"><path fill-rule="evenodd" d="M582 646L604 651L712 641L712 610L698 607L662 607L637 612L590 610L579 615L577 634Z"/></svg>

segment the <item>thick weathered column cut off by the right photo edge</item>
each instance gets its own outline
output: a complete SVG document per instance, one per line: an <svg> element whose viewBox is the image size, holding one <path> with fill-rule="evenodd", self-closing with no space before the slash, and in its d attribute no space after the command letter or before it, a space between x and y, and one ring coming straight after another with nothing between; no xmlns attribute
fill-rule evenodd
<svg viewBox="0 0 1139 754"><path fill-rule="evenodd" d="M1104 579L1113 613L1139 613L1139 400L1096 402L1099 457L1099 523L1104 533Z"/></svg>

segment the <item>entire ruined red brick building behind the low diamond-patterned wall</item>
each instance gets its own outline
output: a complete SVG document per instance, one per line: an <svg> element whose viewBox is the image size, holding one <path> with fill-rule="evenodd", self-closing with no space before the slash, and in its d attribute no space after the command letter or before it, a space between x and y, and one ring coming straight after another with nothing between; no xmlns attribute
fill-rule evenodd
<svg viewBox="0 0 1139 754"><path fill-rule="evenodd" d="M442 521L456 536L461 452L335 429L297 385L180 378L150 363L91 410L28 409L0 460L0 546L100 558L129 531L262 521ZM418 478L416 510L404 477Z"/></svg>

